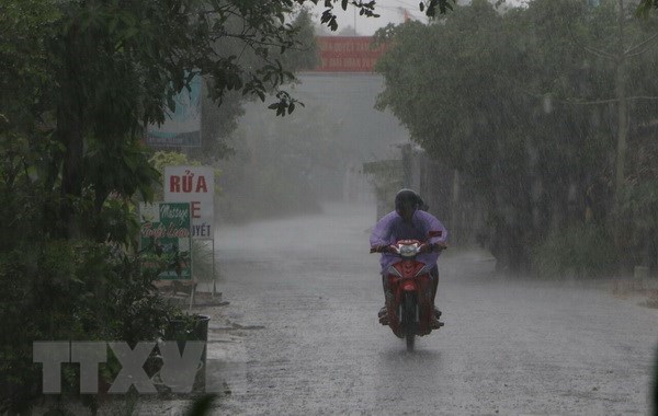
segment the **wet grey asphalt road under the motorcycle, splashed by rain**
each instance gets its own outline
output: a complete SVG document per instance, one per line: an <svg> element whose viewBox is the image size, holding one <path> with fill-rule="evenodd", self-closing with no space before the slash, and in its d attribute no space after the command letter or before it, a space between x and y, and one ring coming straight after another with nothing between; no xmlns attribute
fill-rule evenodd
<svg viewBox="0 0 658 416"><path fill-rule="evenodd" d="M649 414L658 310L591 282L494 277L481 253L442 255L445 326L407 353L376 319L374 219L333 205L217 230L237 324L211 328L209 358L230 365L217 414Z"/></svg>

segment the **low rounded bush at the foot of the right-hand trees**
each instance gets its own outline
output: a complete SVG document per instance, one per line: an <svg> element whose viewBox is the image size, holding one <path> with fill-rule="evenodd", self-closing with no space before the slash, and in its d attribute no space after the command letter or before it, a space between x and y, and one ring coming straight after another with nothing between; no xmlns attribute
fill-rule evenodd
<svg viewBox="0 0 658 416"><path fill-rule="evenodd" d="M598 277L614 274L620 255L605 228L580 224L548 236L532 257L540 276Z"/></svg>

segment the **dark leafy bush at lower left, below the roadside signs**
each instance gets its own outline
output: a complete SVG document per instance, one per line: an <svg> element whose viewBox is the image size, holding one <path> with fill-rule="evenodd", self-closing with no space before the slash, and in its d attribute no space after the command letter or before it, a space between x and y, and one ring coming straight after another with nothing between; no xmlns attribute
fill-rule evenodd
<svg viewBox="0 0 658 416"><path fill-rule="evenodd" d="M37 340L157 339L181 314L152 282L157 269L140 270L136 257L89 241L48 241L0 254L0 413L21 412L42 391L34 365ZM110 361L112 361L110 359ZM101 375L111 381L116 362ZM63 366L64 394L78 391L77 371Z"/></svg>

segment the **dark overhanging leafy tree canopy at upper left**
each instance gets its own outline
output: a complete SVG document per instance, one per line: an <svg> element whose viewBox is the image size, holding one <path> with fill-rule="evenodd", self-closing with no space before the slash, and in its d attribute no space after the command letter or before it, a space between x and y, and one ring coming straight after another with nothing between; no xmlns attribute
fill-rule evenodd
<svg viewBox="0 0 658 416"><path fill-rule="evenodd" d="M427 0L421 8L435 15L451 2ZM164 120L175 94L190 89L196 74L207 81L212 101L230 96L228 120L240 112L239 95L264 101L274 92L270 108L277 115L294 111L296 100L280 88L295 67L308 65L295 58L311 37L304 33L308 18L291 20L305 3L318 0L2 2L0 137L14 141L5 148L15 150L20 138L24 151L38 154L38 163L24 152L20 162L9 160L7 172L14 180L16 163L38 171L34 182L54 198L47 223L61 236L83 232L75 199L91 200L97 211L113 192L140 192L148 199L157 173L139 150L144 129ZM376 16L375 1L324 5L320 20L332 30L334 7Z"/></svg>

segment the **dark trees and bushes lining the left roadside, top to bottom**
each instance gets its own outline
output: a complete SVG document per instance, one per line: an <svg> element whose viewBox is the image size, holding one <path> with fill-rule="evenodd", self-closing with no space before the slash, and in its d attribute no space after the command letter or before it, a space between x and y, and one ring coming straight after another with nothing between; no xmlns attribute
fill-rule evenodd
<svg viewBox="0 0 658 416"><path fill-rule="evenodd" d="M33 342L133 345L180 315L154 290L166 261L145 268L138 258L136 204L154 200L160 182L145 129L195 74L209 105L190 161L231 153L225 139L245 100L293 113L300 104L281 88L315 59L303 3L0 4L0 413L27 412L41 396ZM334 3L321 18L332 28ZM373 4L355 7L373 14ZM101 390L115 373L112 363L101 371ZM78 370L64 374L64 394L77 395Z"/></svg>

